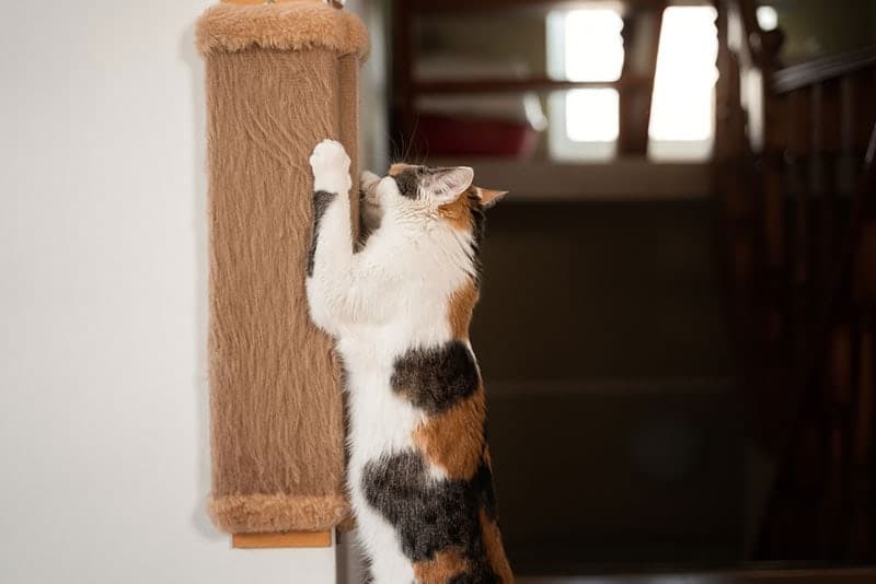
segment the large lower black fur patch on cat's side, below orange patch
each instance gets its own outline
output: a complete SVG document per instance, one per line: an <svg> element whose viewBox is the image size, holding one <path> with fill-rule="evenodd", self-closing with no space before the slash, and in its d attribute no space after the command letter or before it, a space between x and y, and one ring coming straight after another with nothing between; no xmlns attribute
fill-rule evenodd
<svg viewBox="0 0 876 584"><path fill-rule="evenodd" d="M402 551L413 562L426 562L446 549L461 550L469 571L452 582L484 584L498 581L484 548L480 510L492 497L486 464L469 481L435 481L423 457L414 452L369 463L362 474L368 504L396 529ZM485 483L486 481L486 483ZM495 515L495 501L493 515Z"/></svg>

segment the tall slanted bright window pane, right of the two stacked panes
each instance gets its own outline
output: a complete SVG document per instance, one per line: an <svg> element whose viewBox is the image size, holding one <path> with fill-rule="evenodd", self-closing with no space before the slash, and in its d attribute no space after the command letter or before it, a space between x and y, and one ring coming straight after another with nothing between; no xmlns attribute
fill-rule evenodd
<svg viewBox="0 0 876 584"><path fill-rule="evenodd" d="M715 16L711 7L671 7L664 12L648 132L653 142L705 144L714 135Z"/></svg>

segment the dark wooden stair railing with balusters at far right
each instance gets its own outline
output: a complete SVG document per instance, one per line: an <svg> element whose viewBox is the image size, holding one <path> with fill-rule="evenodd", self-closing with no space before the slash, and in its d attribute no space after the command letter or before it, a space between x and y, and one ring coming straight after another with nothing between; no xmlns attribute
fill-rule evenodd
<svg viewBox="0 0 876 584"><path fill-rule="evenodd" d="M753 0L716 4L728 300L777 468L756 554L874 561L876 47L783 69Z"/></svg>

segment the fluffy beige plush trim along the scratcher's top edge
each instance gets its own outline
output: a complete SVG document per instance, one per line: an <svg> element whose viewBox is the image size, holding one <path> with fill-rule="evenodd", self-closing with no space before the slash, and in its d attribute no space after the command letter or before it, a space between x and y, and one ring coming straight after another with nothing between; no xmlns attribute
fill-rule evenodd
<svg viewBox="0 0 876 584"><path fill-rule="evenodd" d="M198 21L195 44L201 55L249 48L303 50L325 48L368 56L368 32L358 16L313 1L278 4L218 4Z"/></svg>

